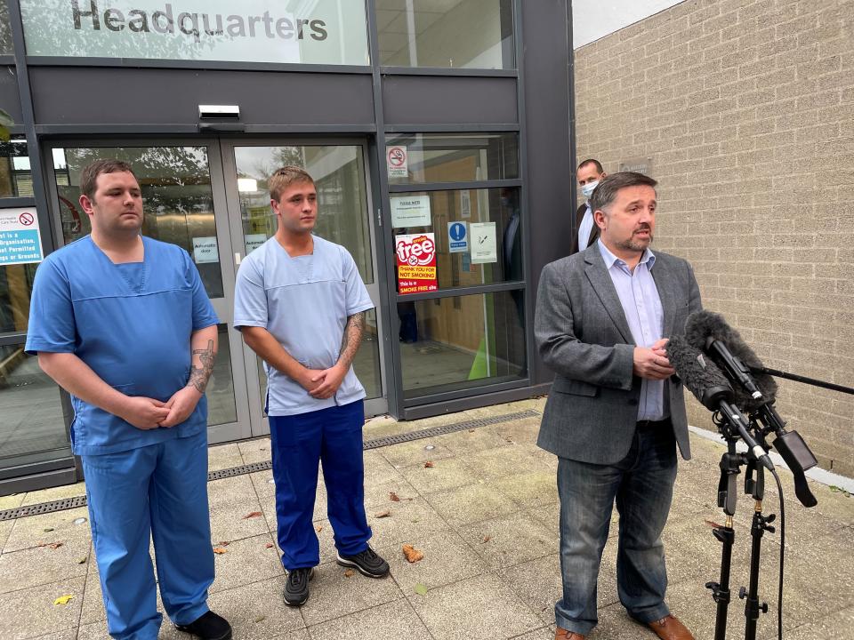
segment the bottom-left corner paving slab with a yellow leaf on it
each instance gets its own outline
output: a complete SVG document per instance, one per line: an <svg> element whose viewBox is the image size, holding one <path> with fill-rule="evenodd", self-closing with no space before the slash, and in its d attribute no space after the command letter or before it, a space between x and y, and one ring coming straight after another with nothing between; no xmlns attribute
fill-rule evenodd
<svg viewBox="0 0 854 640"><path fill-rule="evenodd" d="M85 578L60 580L5 594L0 598L0 637L25 640L77 627L84 582ZM53 604L61 596L72 599Z"/></svg>

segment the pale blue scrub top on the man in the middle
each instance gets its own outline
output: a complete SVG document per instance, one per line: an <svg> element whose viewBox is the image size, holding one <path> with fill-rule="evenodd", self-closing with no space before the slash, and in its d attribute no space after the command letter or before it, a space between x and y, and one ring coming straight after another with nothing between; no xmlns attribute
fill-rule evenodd
<svg viewBox="0 0 854 640"><path fill-rule="evenodd" d="M347 318L374 308L356 262L344 247L318 236L310 255L292 258L275 236L243 259L234 291L234 327L269 331L309 369L338 362ZM289 416L350 404L366 396L352 366L334 396L319 400L264 363L267 413Z"/></svg>

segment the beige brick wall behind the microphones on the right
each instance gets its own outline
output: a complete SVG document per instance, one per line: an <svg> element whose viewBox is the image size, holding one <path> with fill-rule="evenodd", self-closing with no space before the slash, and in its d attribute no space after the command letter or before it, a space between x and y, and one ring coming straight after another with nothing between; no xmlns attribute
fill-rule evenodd
<svg viewBox="0 0 854 640"><path fill-rule="evenodd" d="M766 366L854 387L854 0L677 4L576 51L576 124L606 171L652 159L654 248ZM780 380L777 409L854 476L854 396Z"/></svg>

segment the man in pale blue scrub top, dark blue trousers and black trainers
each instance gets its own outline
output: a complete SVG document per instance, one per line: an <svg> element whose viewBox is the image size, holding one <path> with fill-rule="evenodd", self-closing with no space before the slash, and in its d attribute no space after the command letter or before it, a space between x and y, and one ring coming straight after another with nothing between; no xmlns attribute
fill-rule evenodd
<svg viewBox="0 0 854 640"><path fill-rule="evenodd" d="M269 180L278 231L246 256L235 286L234 326L264 361L278 546L287 571L285 603L309 597L319 564L311 525L323 464L337 562L371 578L389 565L367 540L362 425L365 389L352 369L365 312L374 308L356 263L342 246L311 234L314 180L286 166Z"/></svg>

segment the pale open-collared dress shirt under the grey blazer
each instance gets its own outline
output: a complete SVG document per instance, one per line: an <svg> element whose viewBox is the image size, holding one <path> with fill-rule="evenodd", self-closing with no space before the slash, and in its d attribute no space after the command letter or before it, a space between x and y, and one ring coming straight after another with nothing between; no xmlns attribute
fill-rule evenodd
<svg viewBox="0 0 854 640"><path fill-rule="evenodd" d="M641 261L632 273L624 260L608 251L601 240L598 243L608 275L623 305L635 345L652 347L657 340L661 340L665 323L665 311L661 306L656 281L652 277L655 254L649 249L643 252ZM665 380L641 380L638 420L664 420L670 415L668 404Z"/></svg>

